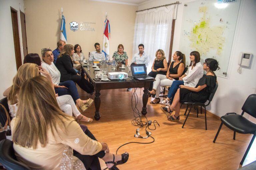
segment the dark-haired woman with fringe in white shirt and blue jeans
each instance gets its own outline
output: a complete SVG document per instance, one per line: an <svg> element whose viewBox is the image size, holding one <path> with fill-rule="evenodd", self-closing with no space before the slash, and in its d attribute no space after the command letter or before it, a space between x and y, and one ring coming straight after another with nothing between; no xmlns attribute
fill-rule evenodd
<svg viewBox="0 0 256 170"><path fill-rule="evenodd" d="M169 102L172 103L174 95L177 92L180 85L196 87L199 79L203 76L204 70L202 64L200 63L199 52L190 52L189 58L190 64L187 72L183 74L181 77L179 77L179 80L176 80L172 83L168 92L168 97L162 102L162 104L168 105Z"/></svg>

